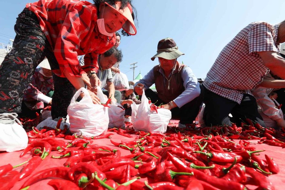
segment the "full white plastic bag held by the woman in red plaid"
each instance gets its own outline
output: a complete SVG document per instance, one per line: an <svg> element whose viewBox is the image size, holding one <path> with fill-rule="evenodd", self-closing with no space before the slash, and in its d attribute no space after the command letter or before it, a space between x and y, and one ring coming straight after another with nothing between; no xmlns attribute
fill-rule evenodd
<svg viewBox="0 0 285 190"><path fill-rule="evenodd" d="M84 97L80 102L75 102L80 93ZM108 129L108 108L99 104L93 104L92 99L85 88L80 88L72 97L67 108L69 115L70 131L82 132L83 136L92 137L105 133Z"/></svg>

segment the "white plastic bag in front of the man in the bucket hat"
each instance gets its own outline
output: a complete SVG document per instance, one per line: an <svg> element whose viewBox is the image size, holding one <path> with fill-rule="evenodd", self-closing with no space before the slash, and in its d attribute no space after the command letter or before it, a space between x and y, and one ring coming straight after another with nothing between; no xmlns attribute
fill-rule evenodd
<svg viewBox="0 0 285 190"><path fill-rule="evenodd" d="M159 108L156 111L150 111L149 100L146 98L143 90L142 103L139 105L133 128L136 131L161 132L165 133L167 125L171 119L171 112L168 109Z"/></svg>

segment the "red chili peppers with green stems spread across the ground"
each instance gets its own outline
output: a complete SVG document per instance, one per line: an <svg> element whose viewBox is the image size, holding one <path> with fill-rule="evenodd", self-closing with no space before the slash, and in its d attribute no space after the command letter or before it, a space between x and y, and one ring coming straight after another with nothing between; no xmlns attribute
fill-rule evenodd
<svg viewBox="0 0 285 190"><path fill-rule="evenodd" d="M29 121L27 121L29 122ZM278 165L269 155L260 158L251 139L258 143L284 147L284 134L271 128L262 128L250 120L242 127L212 126L200 128L189 125L183 131L169 127L166 134L158 132L136 132L131 123L126 128L111 128L104 135L82 137L67 134L67 126L59 129L32 128L27 132L29 146L20 157L32 152L33 157L21 172L13 171L17 166L0 166L1 189L10 189L24 178L28 178L22 189L33 183L57 177L48 182L55 189L233 189L244 190L246 185L256 189L274 190L267 175L279 172ZM93 144L96 139L111 138L116 132L134 140L115 142L114 148ZM133 136L136 135L136 136ZM59 140L64 138L69 140ZM232 139L240 139L233 141ZM129 150L122 156L120 148ZM50 156L56 151L61 156ZM46 157L65 159L62 167L49 168L31 175ZM49 158L49 159L50 159ZM31 175L31 176L30 176ZM152 183L139 180L146 176Z"/></svg>

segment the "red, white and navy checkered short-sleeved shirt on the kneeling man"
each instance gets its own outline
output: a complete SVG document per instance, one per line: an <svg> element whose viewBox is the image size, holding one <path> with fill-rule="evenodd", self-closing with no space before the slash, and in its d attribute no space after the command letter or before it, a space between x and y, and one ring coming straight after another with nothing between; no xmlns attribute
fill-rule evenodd
<svg viewBox="0 0 285 190"><path fill-rule="evenodd" d="M262 82L269 69L258 52L280 52L277 43L279 24L253 22L243 28L220 52L203 85L224 98L240 104L243 93Z"/></svg>

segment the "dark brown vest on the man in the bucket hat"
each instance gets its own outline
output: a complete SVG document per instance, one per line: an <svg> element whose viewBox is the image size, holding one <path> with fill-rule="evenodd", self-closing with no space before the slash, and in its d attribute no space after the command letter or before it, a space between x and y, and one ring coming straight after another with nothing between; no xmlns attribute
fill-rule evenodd
<svg viewBox="0 0 285 190"><path fill-rule="evenodd" d="M176 64L176 68L170 80L169 90L168 90L168 81L159 72L160 65L156 65L153 68L154 78L155 78L155 88L157 91L157 95L163 102L168 103L174 100L175 98L177 98L180 94L182 94L182 92L184 92L185 88L183 86L183 79L181 76L181 73L184 67L188 67L188 66L184 64L179 64L179 63ZM164 80L166 81L165 86L163 85Z"/></svg>

